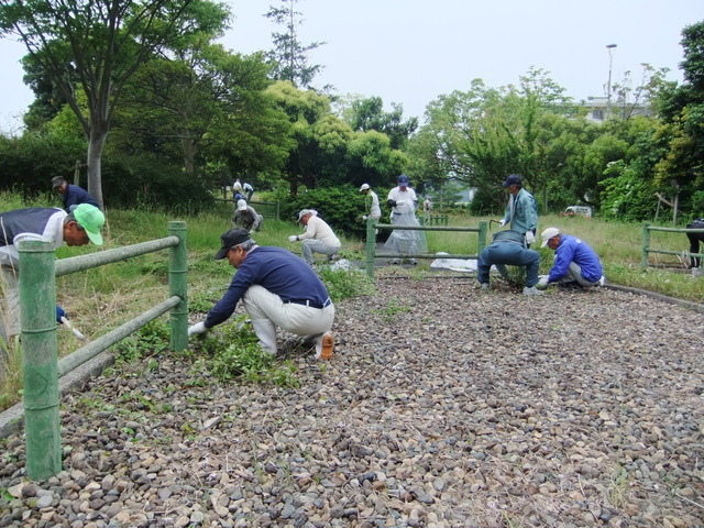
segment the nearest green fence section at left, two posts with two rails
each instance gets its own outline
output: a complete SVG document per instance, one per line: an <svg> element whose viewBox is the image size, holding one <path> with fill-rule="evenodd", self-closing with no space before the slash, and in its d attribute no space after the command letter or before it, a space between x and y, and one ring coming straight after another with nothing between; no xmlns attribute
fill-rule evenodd
<svg viewBox="0 0 704 528"><path fill-rule="evenodd" d="M21 241L20 315L22 323L23 405L26 473L43 480L62 471L58 378L147 322L170 310L170 348L188 346L186 223L169 222L169 237L141 244L55 260L54 244ZM169 297L58 361L56 277L169 249Z"/></svg>

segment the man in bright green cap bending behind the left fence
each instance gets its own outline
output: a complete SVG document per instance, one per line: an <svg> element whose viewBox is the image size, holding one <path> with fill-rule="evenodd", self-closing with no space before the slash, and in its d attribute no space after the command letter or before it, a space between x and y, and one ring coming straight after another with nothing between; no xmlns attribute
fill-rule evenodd
<svg viewBox="0 0 704 528"><path fill-rule="evenodd" d="M6 341L20 333L20 254L21 240L53 242L54 248L102 245L100 229L106 217L100 209L80 204L68 213L58 208L35 207L0 213L0 337ZM56 307L56 320L66 312Z"/></svg>

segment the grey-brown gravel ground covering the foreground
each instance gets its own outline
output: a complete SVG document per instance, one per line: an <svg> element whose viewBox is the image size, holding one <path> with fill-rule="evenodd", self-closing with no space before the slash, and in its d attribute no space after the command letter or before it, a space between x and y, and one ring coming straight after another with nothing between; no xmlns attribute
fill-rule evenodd
<svg viewBox="0 0 704 528"><path fill-rule="evenodd" d="M701 527L704 316L613 289L378 280L298 389L169 356L62 406L64 471L0 461L0 526Z"/></svg>

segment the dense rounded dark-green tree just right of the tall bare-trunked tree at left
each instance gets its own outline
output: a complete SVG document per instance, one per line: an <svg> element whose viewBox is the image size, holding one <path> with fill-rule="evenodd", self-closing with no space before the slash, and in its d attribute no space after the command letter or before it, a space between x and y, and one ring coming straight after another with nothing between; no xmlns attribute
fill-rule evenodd
<svg viewBox="0 0 704 528"><path fill-rule="evenodd" d="M144 65L125 87L112 142L180 158L186 174L207 164L231 174L278 169L290 123L267 94L260 54L242 56L208 38Z"/></svg>

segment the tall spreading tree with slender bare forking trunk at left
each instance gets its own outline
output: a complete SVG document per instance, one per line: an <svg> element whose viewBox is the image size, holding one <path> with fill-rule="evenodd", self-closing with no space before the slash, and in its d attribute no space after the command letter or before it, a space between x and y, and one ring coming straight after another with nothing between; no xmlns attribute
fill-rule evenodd
<svg viewBox="0 0 704 528"><path fill-rule="evenodd" d="M217 34L227 19L223 4L206 0L0 0L0 31L24 43L81 124L88 139L88 190L99 204L102 151L125 82L172 44Z"/></svg>

